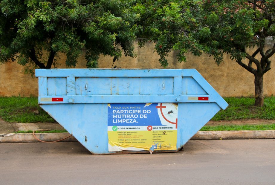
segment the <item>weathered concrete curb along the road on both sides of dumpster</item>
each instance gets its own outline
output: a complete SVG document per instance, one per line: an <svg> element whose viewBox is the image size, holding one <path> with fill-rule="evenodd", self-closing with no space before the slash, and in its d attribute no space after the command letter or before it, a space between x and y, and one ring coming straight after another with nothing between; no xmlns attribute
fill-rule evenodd
<svg viewBox="0 0 275 185"><path fill-rule="evenodd" d="M36 137L43 141L55 141L68 137L69 133L36 133ZM259 131L198 131L190 140L219 140L219 139L275 139L275 130ZM62 142L75 142L69 137ZM0 143L31 143L40 142L33 134L0 134Z"/></svg>

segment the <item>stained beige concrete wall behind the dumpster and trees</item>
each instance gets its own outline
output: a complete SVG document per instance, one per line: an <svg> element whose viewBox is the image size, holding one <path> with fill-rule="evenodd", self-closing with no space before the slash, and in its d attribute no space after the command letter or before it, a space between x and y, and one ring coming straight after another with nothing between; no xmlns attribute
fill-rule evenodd
<svg viewBox="0 0 275 185"><path fill-rule="evenodd" d="M269 43L270 45L272 43ZM269 47L269 45L267 45ZM160 68L157 53L153 52L154 45L146 44L144 48L136 46L136 58L122 57L114 65L121 68ZM253 50L251 50L253 52ZM61 60L65 56L60 56ZM102 56L99 60L99 68L111 68L113 59L109 56ZM264 94L271 96L275 94L275 56L271 58L271 70L264 75ZM176 53L171 52L168 57L169 69L196 69L212 87L223 97L253 96L254 76L246 71L236 62L224 56L224 62L216 65L212 57L203 54L201 57L187 55L186 63L179 63ZM246 61L247 62L247 61ZM62 63L62 61L59 61ZM58 68L64 66L58 66ZM78 60L77 68L86 68L85 58L81 56ZM24 74L24 67L16 62L9 62L0 65L0 96L37 96L37 78L30 74Z"/></svg>

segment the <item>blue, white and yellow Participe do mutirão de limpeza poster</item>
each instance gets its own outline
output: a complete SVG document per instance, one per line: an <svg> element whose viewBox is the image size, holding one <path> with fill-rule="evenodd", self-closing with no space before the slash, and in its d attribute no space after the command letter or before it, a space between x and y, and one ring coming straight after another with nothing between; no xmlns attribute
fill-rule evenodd
<svg viewBox="0 0 275 185"><path fill-rule="evenodd" d="M109 152L176 150L177 103L108 104Z"/></svg>

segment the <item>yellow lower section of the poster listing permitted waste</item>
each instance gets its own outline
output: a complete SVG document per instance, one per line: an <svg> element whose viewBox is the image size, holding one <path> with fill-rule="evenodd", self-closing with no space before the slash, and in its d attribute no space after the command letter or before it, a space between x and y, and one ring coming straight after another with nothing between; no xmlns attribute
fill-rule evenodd
<svg viewBox="0 0 275 185"><path fill-rule="evenodd" d="M177 150L177 130L108 131L108 137L111 147L122 150Z"/></svg>

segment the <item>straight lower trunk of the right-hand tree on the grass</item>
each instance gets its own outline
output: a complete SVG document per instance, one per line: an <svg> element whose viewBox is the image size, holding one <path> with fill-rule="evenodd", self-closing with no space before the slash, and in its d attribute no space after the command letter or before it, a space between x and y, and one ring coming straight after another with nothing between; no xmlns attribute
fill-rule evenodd
<svg viewBox="0 0 275 185"><path fill-rule="evenodd" d="M264 106L264 88L263 88L263 75L255 74L255 104L254 106Z"/></svg>

